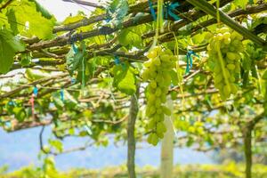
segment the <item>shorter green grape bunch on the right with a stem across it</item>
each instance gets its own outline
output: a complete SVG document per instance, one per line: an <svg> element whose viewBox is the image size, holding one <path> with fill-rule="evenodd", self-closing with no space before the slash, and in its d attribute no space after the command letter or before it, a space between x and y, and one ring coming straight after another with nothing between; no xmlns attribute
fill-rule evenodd
<svg viewBox="0 0 267 178"><path fill-rule="evenodd" d="M229 28L217 28L216 35L207 45L209 66L214 76L214 86L223 100L238 92L240 53L243 36Z"/></svg>

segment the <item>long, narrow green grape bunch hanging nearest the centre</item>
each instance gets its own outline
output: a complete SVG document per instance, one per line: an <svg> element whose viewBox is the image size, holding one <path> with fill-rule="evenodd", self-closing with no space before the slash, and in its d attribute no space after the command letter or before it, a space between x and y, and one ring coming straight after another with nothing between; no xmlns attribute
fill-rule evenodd
<svg viewBox="0 0 267 178"><path fill-rule="evenodd" d="M163 50L160 46L155 46L147 57L149 61L143 64L145 68L142 72L142 79L149 83L146 88L146 116L150 118L147 125L150 130L148 142L157 145L158 140L162 139L166 132L165 115L171 115L171 110L166 108L165 103L172 81L170 71L174 69L177 59L172 51Z"/></svg>

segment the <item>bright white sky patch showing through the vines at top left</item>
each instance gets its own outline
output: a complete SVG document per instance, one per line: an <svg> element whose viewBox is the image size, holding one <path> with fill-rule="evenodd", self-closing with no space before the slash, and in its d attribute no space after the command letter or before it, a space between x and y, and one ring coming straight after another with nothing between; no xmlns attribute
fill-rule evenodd
<svg viewBox="0 0 267 178"><path fill-rule="evenodd" d="M88 6L63 2L61 0L37 0L37 2L42 4L44 8L51 12L59 21L65 20L70 13L72 15L76 15L78 11L83 11L85 14L88 14L91 10L93 10L93 8ZM90 2L97 3L98 0L90 0Z"/></svg>

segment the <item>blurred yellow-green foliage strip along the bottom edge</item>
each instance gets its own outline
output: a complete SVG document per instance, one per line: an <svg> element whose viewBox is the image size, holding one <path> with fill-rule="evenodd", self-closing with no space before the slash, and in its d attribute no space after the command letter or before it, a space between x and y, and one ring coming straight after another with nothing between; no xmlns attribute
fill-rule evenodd
<svg viewBox="0 0 267 178"><path fill-rule="evenodd" d="M47 165L52 164L50 161L46 161ZM243 165L236 165L229 163L226 165L188 165L188 166L174 166L174 178L241 178ZM45 173L45 174L44 174ZM33 177L38 175L46 177L57 176L59 178L76 178L77 176L100 177L100 178L126 178L127 173L125 166L106 167L101 170L88 170L88 169L73 169L67 173L59 173L56 171L46 171L35 169L34 167L22 168L20 171L13 172L11 174L4 175L4 178L11 178L12 176L19 176L22 178ZM53 174L54 176L53 176ZM154 167L144 166L142 168L137 167L136 174L140 178L159 178L158 170ZM30 176L29 176L30 175ZM253 177L263 178L267 175L267 168L263 165L255 165L253 169Z"/></svg>

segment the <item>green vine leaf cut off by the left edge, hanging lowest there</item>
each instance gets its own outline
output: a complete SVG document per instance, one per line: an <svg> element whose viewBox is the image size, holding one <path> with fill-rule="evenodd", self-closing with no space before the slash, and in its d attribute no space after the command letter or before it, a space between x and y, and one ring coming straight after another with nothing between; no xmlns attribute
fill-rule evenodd
<svg viewBox="0 0 267 178"><path fill-rule="evenodd" d="M7 73L12 67L15 53L24 50L24 44L17 37L12 36L11 31L0 29L0 73Z"/></svg>

